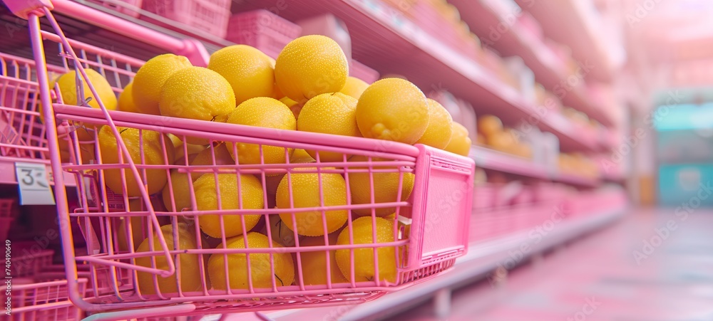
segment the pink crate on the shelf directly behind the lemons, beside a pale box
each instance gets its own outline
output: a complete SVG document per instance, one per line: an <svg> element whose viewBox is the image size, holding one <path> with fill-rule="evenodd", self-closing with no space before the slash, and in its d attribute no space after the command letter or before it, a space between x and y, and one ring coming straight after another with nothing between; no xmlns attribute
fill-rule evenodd
<svg viewBox="0 0 713 321"><path fill-rule="evenodd" d="M277 58L282 48L299 37L302 28L270 11L260 9L230 17L225 39L253 46Z"/></svg>

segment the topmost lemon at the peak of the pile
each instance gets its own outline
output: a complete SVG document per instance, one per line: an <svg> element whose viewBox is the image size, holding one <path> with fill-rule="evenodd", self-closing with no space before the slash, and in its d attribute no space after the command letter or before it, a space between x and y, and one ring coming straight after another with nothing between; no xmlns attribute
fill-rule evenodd
<svg viewBox="0 0 713 321"><path fill-rule="evenodd" d="M277 56L275 82L279 90L296 102L344 88L349 63L339 44L326 36L294 39Z"/></svg>

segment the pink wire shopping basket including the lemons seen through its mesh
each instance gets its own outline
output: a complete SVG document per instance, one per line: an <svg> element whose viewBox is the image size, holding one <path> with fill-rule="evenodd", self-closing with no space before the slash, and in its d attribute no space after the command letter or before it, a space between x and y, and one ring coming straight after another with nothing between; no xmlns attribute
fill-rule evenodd
<svg viewBox="0 0 713 321"><path fill-rule="evenodd" d="M67 39L51 11L41 11L55 33L40 31L30 14L39 78L43 41L58 43L94 97L86 69L118 91L143 64ZM78 181L80 207L71 213L56 191L63 247L73 246L69 221L78 220L88 250L64 251L67 273L86 262L98 280L87 298L70 284L83 310L170 315L185 313L175 306L182 302L201 313L364 302L431 278L467 251L474 164L466 157L108 111L101 100L100 109L50 103L46 80L41 88L56 183L63 171ZM70 146L67 162L60 140ZM195 158L191 144L202 146Z"/></svg>

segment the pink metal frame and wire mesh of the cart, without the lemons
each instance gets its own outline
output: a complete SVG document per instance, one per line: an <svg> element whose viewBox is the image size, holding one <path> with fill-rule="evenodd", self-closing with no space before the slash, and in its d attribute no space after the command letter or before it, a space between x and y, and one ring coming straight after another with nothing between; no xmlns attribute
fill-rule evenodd
<svg viewBox="0 0 713 321"><path fill-rule="evenodd" d="M58 215L60 216L60 227L63 244L63 254L66 262L66 275L73 278L77 273L77 265L71 262L88 262L93 273L93 298L83 298L80 294L78 283L70 280L68 283L69 296L78 307L88 312L125 310L143 308L142 312L133 314L135 317L158 313L169 315L171 313L185 313L175 307L166 307L180 302L192 302L192 305L183 305L182 309L193 310L263 310L279 309L287 307L305 305L339 305L349 302L363 302L383 294L384 291L393 291L404 288L412 283L431 278L442 270L446 270L453 265L456 257L462 256L468 246L468 226L471 216L471 201L473 189L474 164L472 159L460 157L455 154L432 149L423 145L409 146L394 142L384 142L379 140L369 140L356 137L341 137L334 135L322 135L309 132L296 132L285 130L272 130L260 127L247 127L232 124L215 122L205 122L199 120L185 120L170 117L153 115L138 115L126 112L108 111L101 100L98 100L100 109L64 105L60 102L52 102L51 91L47 81L47 69L43 41L59 43L62 50L61 56L65 60L67 70L78 71L78 84L87 83L88 88L94 97L98 97L91 82L88 82L86 68L93 68L104 75L112 83L115 91L123 88L128 81L133 78L135 70L143 64L140 60L135 60L122 56L101 48L88 46L83 43L67 39L60 26L51 14L48 6L42 4L30 9L22 9L18 3L24 1L9 1L11 9L19 16L29 18L29 28L31 32L33 53L38 65L37 75L40 85L41 101L43 106L48 108L43 110L46 120L47 140L51 155L51 166L57 186L63 185L61 173L71 172L76 175L80 195L81 208L73 213L68 211L66 191L56 189ZM63 3L63 1L57 1ZM55 33L41 31L39 28L39 16L46 16L53 27ZM81 53L77 55L76 53ZM78 85L78 95L83 95L82 86ZM101 154L98 148L98 130L101 126L107 126L116 139L118 146L118 164L111 164L102 161L106 154ZM93 132L93 140L80 142L76 129L86 127ZM150 164L144 154L144 148L140 147L140 157L134 159L129 153L127 144L121 138L120 133L126 128L138 130L139 146L143 146L145 135L150 132L160 134L171 134L183 141L183 147L174 151L172 144L165 135L160 136L160 153L163 154L163 164ZM93 130L93 131L92 131ZM180 153L188 159L188 137L199 137L205 139L207 149L210 150L213 164L203 166L189 166L188 160L173 163L169 156ZM58 142L68 140L71 146L71 162L62 163L60 160ZM260 151L259 164L218 164L217 148L224 146L235 146L230 143L257 144ZM96 159L83 159L81 145L93 144ZM265 149L281 148L285 154L284 164L266 164ZM170 149L170 150L169 150ZM183 149L183 150L181 150ZM342 154L342 161L321 162L319 157L315 162L307 164L290 163L289 156L292 149L316 150L319 152L336 152ZM234 159L240 158L236 147L228 148L227 152L232 154ZM365 157L365 161L349 162L349 158L359 155ZM180 158L180 157L177 157ZM108 171L119 171L121 178L120 188L114 190L106 186ZM170 172L199 173L203 175L232 174L237 179L237 188L244 175L255 175L260 179L262 186L267 186L267 178L277 174L284 174L284 178L289 186L289 208L275 209L268 205L267 191L263 190L262 209L243 209L242 197L238 197L240 204L237 209L222 209L219 205L217 210L199 210L193 191L193 182L188 181L190 187L190 206L179 211L169 211L155 207L152 203L151 195L147 189L140 188L140 196L128 197L128 179L135 181L147 181L148 171L151 173L163 172L168 180L167 186L170 190L170 199L175 201L175 193L170 181ZM369 175L369 187L371 190L371 201L365 204L352 204L349 177L354 174L366 173ZM398 176L398 189L393 201L377 202L374 195L374 186L379 181L375 177L380 174L396 174ZM152 174L152 175L154 175ZM319 205L313 207L296 208L294 206L294 193L292 191L292 179L297 174L317 174L319 177ZM324 194L328 191L322 189L322 177L329 174L339 174L344 178L347 189L347 204L325 205ZM407 191L404 189L404 177L414 175L414 186L408 199L403 200ZM144 186L145 187L145 186ZM215 191L219 191L220 186L216 184ZM113 195L113 196L112 196ZM220 193L217 193L217 204L220 202ZM140 210L130 209L129 201L139 200L142 204ZM167 206L171 207L171 206ZM356 219L357 210L371 212L372 239L376 239L376 210L389 208L394 210L394 218L389 219L393 226L393 241L383 243L354 243L354 232L352 229L352 219ZM127 210L128 209L128 210ZM240 216L242 226L245 226L246 215L260 215L265 222L270 221L270 215L291 214L292 221L300 213L307 211L317 211L321 214L322 227L327 230L328 211L347 211L349 219L344 226L344 231L349 233L349 243L344 245L329 244L326 233L324 241L327 246L299 246L300 236L293 232L294 247L281 247L275 244L272 238L267 238L269 246L267 248L250 248L245 241L245 248L226 248L217 246L215 248L202 245L202 234L200 231L200 219L208 215L220 216L221 237L214 239L225 244L227 241L225 233L225 219L230 216ZM133 226L133 223L125 224L124 233L133 235L140 233L141 238L148 240L151 251L137 252L131 237L128 238L128 250L121 250L118 244L118 233L120 219L128 222L130 216L142 217L143 223L140 226ZM167 238L173 244L180 243L178 233L178 223L182 217L187 219L195 232L195 249L173 248L168 246ZM369 217L369 215L366 215ZM73 237L70 228L70 220L78 218L83 228L83 236L86 238L88 255L76 256L73 251ZM161 223L170 221L173 226L173 235L170 233L156 233L161 228ZM267 235L271 235L271 224L265 224ZM296 223L292 226L292 231L297 230ZM245 229L243 234L247 233ZM155 241L154 238L155 237ZM185 237L185 236L183 236ZM393 248L394 261L396 262L397 275L395 280L385 280L379 277L380 269L374 269L373 280L356 282L354 268L354 249L356 248ZM327 284L326 285L305 285L304 273L301 267L301 254L307 251L344 251L349 250L352 266L349 269L348 283L332 283L330 270L337 268L330 267L327 263ZM227 290L217 290L207 283L204 263L209 256L223 256L227 261L228 256L245 256L246 254L267 253L270 255L270 272L273 275L270 288L257 288L253 285L253 279L247 278L247 289L230 288L225 284ZM294 285L284 285L282 280L275 277L274 257L280 253L290 253L296 258L296 276ZM374 253L374 266L379 266L379 259L384 257ZM181 273L181 256L198 256L200 264L198 266L202 290L195 292L184 291L181 288L181 279L175 275ZM138 258L151 258L151 266L141 266L136 263ZM166 258L168 266L165 270L158 268L156 258ZM255 271L250 265L250 255L247 255L248 275ZM329 261L327 261L329 262ZM185 268L185 267L184 267ZM344 272L344 271L342 271ZM156 294L142 293L139 286L138 275L148 273L153 280L153 292ZM228 265L225 264L225 274L229 274ZM346 273L345 273L346 274ZM163 293L158 285L158 278L171 277L175 280L178 288L177 293ZM278 282L280 283L278 285ZM143 289L145 292L145 288ZM356 298L356 299L355 299ZM230 300L220 302L219 300ZM96 302L102 302L97 304ZM148 309L148 310L146 310ZM158 309L158 310L156 310Z"/></svg>

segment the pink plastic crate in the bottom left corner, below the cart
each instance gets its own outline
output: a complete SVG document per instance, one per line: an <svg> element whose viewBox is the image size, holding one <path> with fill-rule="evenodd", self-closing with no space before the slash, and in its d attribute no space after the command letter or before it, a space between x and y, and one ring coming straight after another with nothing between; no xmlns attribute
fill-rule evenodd
<svg viewBox="0 0 713 321"><path fill-rule="evenodd" d="M55 320L73 321L81 320L84 314L78 307L69 300L69 290L67 280L53 280L42 282L42 280L14 280L11 297L12 315L3 320ZM38 283L35 283L38 282ZM74 281L73 281L74 282ZM83 295L86 289L87 280L80 278L76 280L78 292ZM6 302L5 291L3 302Z"/></svg>

